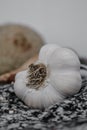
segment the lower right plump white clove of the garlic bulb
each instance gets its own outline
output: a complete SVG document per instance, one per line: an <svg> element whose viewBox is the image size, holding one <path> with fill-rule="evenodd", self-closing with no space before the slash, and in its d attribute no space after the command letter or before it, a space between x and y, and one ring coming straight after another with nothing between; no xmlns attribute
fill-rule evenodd
<svg viewBox="0 0 87 130"><path fill-rule="evenodd" d="M63 95L73 95L81 88L81 76L78 71L54 72L50 76L52 86Z"/></svg>

